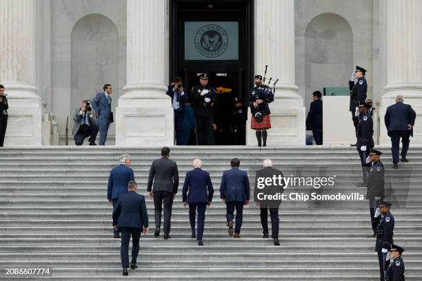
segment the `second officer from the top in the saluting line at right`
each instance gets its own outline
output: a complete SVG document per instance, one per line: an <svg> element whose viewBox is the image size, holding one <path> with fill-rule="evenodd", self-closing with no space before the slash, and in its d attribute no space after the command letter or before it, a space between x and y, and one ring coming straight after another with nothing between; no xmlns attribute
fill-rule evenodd
<svg viewBox="0 0 422 281"><path fill-rule="evenodd" d="M359 183L358 186L368 185L368 170L370 162L367 161L367 158L370 154L370 149L374 147L374 140L372 139L372 134L374 134L374 123L372 122L372 117L368 114L369 109L370 105L368 105L368 103L359 105L360 114L359 125L356 131L356 149L361 158L363 183Z"/></svg>

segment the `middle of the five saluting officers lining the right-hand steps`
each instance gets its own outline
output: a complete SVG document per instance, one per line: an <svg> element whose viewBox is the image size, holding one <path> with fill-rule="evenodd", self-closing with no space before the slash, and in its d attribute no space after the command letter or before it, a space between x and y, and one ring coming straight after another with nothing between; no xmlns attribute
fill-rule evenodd
<svg viewBox="0 0 422 281"><path fill-rule="evenodd" d="M366 191L366 198L369 200L370 205L370 216L372 223L372 230L374 234L372 237L375 237L376 227L379 224L381 216L375 217L375 209L377 207L377 202L384 200L385 189L384 189L384 165L380 160L382 152L371 149L370 156L372 167L368 174L368 187Z"/></svg>

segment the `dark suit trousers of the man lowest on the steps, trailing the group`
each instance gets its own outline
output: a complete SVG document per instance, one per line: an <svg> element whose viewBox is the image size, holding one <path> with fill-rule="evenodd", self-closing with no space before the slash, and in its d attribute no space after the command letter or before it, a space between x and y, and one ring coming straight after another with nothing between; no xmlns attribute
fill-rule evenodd
<svg viewBox="0 0 422 281"><path fill-rule="evenodd" d="M132 261L131 263L137 263L139 253L139 238L141 238L141 229L136 227L121 227L121 246L120 246L120 257L121 267L123 269L129 267L129 242L130 236L132 235Z"/></svg>

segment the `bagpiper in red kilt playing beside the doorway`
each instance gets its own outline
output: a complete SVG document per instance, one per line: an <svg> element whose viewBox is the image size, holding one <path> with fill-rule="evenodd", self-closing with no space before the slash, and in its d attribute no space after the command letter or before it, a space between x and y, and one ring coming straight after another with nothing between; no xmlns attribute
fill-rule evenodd
<svg viewBox="0 0 422 281"><path fill-rule="evenodd" d="M255 87L250 90L249 106L252 113L251 129L256 130L258 146L267 146L267 129L271 128L270 107L274 94L268 85L263 85L262 76L255 75ZM262 137L262 142L261 142Z"/></svg>

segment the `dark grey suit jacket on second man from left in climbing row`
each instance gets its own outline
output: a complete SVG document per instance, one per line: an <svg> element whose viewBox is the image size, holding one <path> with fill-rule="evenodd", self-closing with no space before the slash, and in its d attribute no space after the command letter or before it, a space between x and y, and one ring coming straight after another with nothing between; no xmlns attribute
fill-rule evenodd
<svg viewBox="0 0 422 281"><path fill-rule="evenodd" d="M152 189L152 182L154 188ZM176 162L169 158L159 158L152 161L150 174L148 176L147 191L168 191L177 194L179 188L179 171Z"/></svg>

